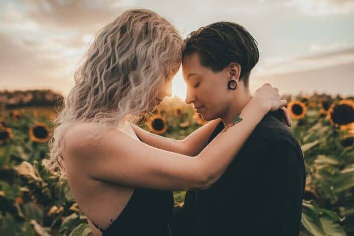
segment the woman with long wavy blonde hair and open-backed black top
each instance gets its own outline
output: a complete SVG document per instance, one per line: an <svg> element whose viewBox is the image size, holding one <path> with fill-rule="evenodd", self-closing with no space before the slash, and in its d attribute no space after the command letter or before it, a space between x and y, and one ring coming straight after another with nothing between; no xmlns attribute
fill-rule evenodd
<svg viewBox="0 0 354 236"><path fill-rule="evenodd" d="M169 235L172 190L208 188L262 117L286 103L266 85L242 110L243 121L208 146L219 120L189 135L193 145L162 137L158 148L145 144L132 123L171 96L183 47L170 22L132 9L99 31L75 72L47 168L68 181L94 235Z"/></svg>

